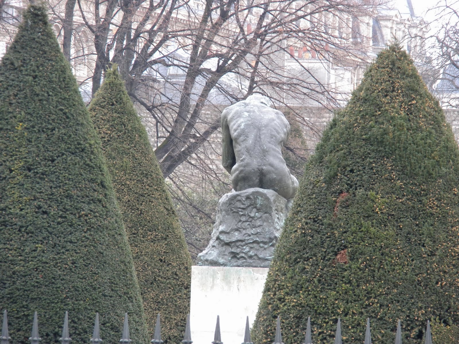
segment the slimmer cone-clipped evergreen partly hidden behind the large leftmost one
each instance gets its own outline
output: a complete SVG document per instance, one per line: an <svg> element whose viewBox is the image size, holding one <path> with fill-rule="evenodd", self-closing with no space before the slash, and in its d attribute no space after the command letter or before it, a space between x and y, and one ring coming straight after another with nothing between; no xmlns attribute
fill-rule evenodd
<svg viewBox="0 0 459 344"><path fill-rule="evenodd" d="M145 127L116 69L107 71L89 110L123 214L149 332L160 313L162 339L179 343L190 312L191 258Z"/></svg>

